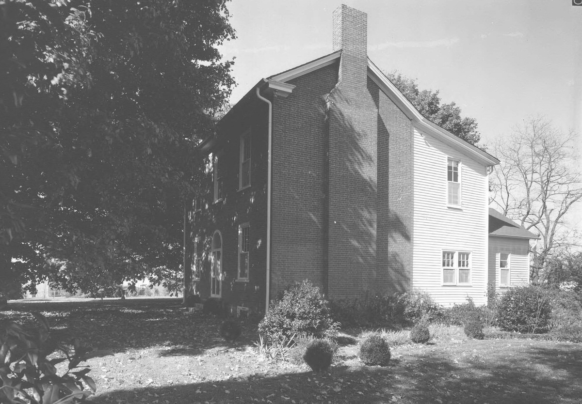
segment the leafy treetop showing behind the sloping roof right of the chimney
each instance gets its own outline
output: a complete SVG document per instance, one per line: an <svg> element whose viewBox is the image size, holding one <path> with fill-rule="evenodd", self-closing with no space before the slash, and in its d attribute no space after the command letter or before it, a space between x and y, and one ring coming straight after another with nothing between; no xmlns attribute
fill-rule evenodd
<svg viewBox="0 0 582 404"><path fill-rule="evenodd" d="M472 145L480 140L477 121L474 118L462 117L461 109L455 102L441 104L438 90L419 90L416 79L407 78L396 71L385 74L426 119Z"/></svg>

